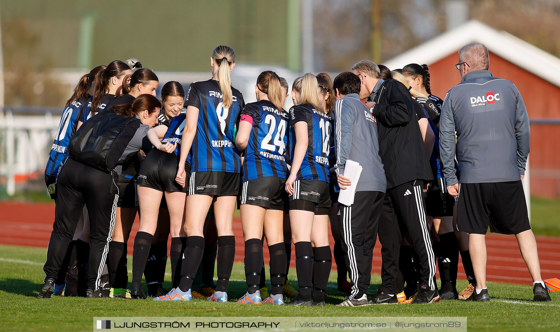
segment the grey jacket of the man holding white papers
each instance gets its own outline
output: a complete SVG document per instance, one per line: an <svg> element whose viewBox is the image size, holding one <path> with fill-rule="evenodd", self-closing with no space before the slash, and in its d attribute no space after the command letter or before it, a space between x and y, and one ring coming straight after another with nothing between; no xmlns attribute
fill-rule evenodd
<svg viewBox="0 0 560 332"><path fill-rule="evenodd" d="M334 141L337 175L343 174L346 160L356 161L363 168L356 191L385 193L387 180L379 156L377 124L357 93L334 103Z"/></svg>

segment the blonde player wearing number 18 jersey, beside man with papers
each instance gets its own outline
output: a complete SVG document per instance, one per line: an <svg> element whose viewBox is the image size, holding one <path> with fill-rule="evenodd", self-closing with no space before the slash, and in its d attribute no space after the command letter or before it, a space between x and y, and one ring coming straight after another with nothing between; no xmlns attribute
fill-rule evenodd
<svg viewBox="0 0 560 332"><path fill-rule="evenodd" d="M292 85L292 98L296 105L290 109L292 166L286 180L286 191L290 200L288 207L300 291L288 304L296 306L324 305L330 265L328 270L314 271L314 260L327 263L332 259L326 217L331 205L328 169L331 124L321 104L319 88L317 78L310 73L301 80L298 78ZM323 217L315 219L315 216ZM313 275L316 276L315 292L311 296Z"/></svg>

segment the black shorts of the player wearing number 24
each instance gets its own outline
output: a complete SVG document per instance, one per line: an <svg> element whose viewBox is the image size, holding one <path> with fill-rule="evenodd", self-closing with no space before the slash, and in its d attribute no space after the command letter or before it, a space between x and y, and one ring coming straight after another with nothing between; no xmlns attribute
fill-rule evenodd
<svg viewBox="0 0 560 332"><path fill-rule="evenodd" d="M260 177L241 185L240 205L257 205L265 209L283 210L288 200L284 186L286 179L276 176Z"/></svg>

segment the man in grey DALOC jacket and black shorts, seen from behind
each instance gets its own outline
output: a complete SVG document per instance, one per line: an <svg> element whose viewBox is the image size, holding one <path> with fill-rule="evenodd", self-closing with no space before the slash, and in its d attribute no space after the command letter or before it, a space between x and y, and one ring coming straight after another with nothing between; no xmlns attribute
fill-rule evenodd
<svg viewBox="0 0 560 332"><path fill-rule="evenodd" d="M550 301L540 277L536 241L521 185L530 136L523 99L514 83L493 77L488 71L488 49L483 44L463 46L456 67L462 79L445 97L440 154L447 191L459 197L457 228L470 236L469 251L477 284L469 300L490 300L484 239L489 226L491 232L515 234L533 277L533 300Z"/></svg>

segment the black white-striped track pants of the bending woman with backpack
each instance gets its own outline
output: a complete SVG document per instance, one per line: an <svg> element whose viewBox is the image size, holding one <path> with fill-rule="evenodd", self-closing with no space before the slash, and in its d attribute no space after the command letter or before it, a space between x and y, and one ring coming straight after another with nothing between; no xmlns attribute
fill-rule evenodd
<svg viewBox="0 0 560 332"><path fill-rule="evenodd" d="M118 195L110 193L113 181L111 174L70 158L64 163L58 175L53 232L50 235L43 267L47 278L56 278L60 268L66 268L60 265L85 204L90 216L87 288L95 290L101 286L101 274L115 226L118 200Z"/></svg>

